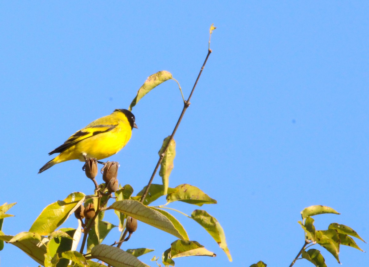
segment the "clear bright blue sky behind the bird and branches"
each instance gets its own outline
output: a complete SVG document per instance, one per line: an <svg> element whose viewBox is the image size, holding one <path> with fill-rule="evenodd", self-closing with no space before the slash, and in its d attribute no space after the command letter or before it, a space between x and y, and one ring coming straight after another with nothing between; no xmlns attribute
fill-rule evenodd
<svg viewBox="0 0 369 267"><path fill-rule="evenodd" d="M78 161L37 174L47 153L90 121L127 108L159 70L171 72L187 97L214 23L213 53L175 136L170 186L192 184L218 201L201 208L223 226L234 261L174 214L191 239L217 254L176 259L176 266L289 266L304 243L300 211L317 204L341 212L316 216L318 229L338 222L368 241L368 12L364 1L2 2L0 204L18 202L3 231L27 231L46 205L69 193L91 194ZM120 183L136 193L147 184L181 110L173 81L134 107L139 129L109 158L121 164ZM191 206L170 207L190 214ZM76 227L75 219L65 226ZM149 259L175 238L138 227L125 246L156 249L141 257L154 266ZM111 235L114 241L119 233ZM340 259L343 266L369 261L368 253L342 246ZM11 245L0 260L37 266Z"/></svg>

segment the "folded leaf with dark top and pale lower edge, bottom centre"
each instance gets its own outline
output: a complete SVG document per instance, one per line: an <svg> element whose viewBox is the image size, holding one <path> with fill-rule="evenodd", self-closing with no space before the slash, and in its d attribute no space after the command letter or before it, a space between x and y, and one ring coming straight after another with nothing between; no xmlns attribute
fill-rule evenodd
<svg viewBox="0 0 369 267"><path fill-rule="evenodd" d="M185 256L217 256L215 253L205 249L203 245L200 245L196 241L180 239L170 244L170 255L171 259Z"/></svg>

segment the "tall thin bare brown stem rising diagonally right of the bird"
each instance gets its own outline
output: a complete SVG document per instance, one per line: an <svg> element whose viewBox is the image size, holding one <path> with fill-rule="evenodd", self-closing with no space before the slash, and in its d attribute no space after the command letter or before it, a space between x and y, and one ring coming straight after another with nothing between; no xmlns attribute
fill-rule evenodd
<svg viewBox="0 0 369 267"><path fill-rule="evenodd" d="M193 88L192 88L192 91L191 91L191 93L190 93L190 96L188 97L187 101L185 101L185 102L184 102L183 110L182 110L182 112L181 112L181 115L179 116L179 119L178 119L178 121L177 121L177 124L176 124L176 126L174 127L174 129L173 129L172 135L170 135L170 138L169 138L169 140L168 140L168 143L167 143L167 144L166 144L166 146L165 146L164 152L160 155L159 160L158 160L158 163L156 163L155 169L154 169L154 171L152 172L152 175L151 175L151 178L150 178L150 180L149 180L149 183L148 183L148 184L147 184L147 186L146 186L145 193L144 193L144 194L142 195L142 197L141 197L141 200L140 200L140 201L141 201L141 203L143 203L143 202L144 202L145 197L146 197L147 193L149 192L149 188L150 188L150 185L152 184L152 181L154 180L154 176L155 176L155 174L156 174L156 171L158 171L159 166L160 166L160 163L162 162L163 157L164 157L164 155L165 155L165 153L166 153L166 150L167 150L167 149L168 149L168 147L169 147L170 141L172 141L172 139L173 139L173 137L174 137L174 135L175 135L175 133L176 133L176 131L177 131L177 129L178 129L178 126L179 126L180 122L182 121L182 118L183 118L184 112L186 112L187 108L190 106L190 99L191 99L191 97L192 97L193 91L194 91L194 90L195 90L195 88L196 88L197 82L198 82L198 81L199 81L199 79L200 79L201 73L202 73L202 72L203 72L203 70L204 70L204 67L205 67L205 65L206 65L206 62L207 62L207 60L208 60L208 58L209 58L209 56L210 56L211 52L212 52L212 51L211 51L211 49L209 48L209 49L208 49L207 56L206 56L205 61L204 61L204 64L203 64L203 66L201 67L201 70L200 70L200 72L199 72L199 75L197 76L196 82L195 82L195 84L194 84L194 86L193 86Z"/></svg>

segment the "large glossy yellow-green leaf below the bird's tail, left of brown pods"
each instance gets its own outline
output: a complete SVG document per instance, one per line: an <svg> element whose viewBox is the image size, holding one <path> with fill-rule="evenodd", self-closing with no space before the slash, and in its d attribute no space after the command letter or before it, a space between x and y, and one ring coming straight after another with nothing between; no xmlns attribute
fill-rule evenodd
<svg viewBox="0 0 369 267"><path fill-rule="evenodd" d="M49 235L54 232L66 219L72 214L77 207L85 200L85 194L75 192L63 201L56 201L48 205L36 221L32 224L30 232L36 232L40 235Z"/></svg>

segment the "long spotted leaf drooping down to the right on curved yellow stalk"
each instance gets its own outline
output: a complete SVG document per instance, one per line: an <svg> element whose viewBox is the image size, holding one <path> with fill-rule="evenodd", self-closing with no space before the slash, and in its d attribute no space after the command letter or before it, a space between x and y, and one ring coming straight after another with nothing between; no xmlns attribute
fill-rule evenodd
<svg viewBox="0 0 369 267"><path fill-rule="evenodd" d="M221 249L227 254L228 260L232 261L231 253L225 242L225 234L220 223L213 216L208 214L206 211L201 209L195 209L191 217L198 222L205 230L214 238L215 242L218 243Z"/></svg>

